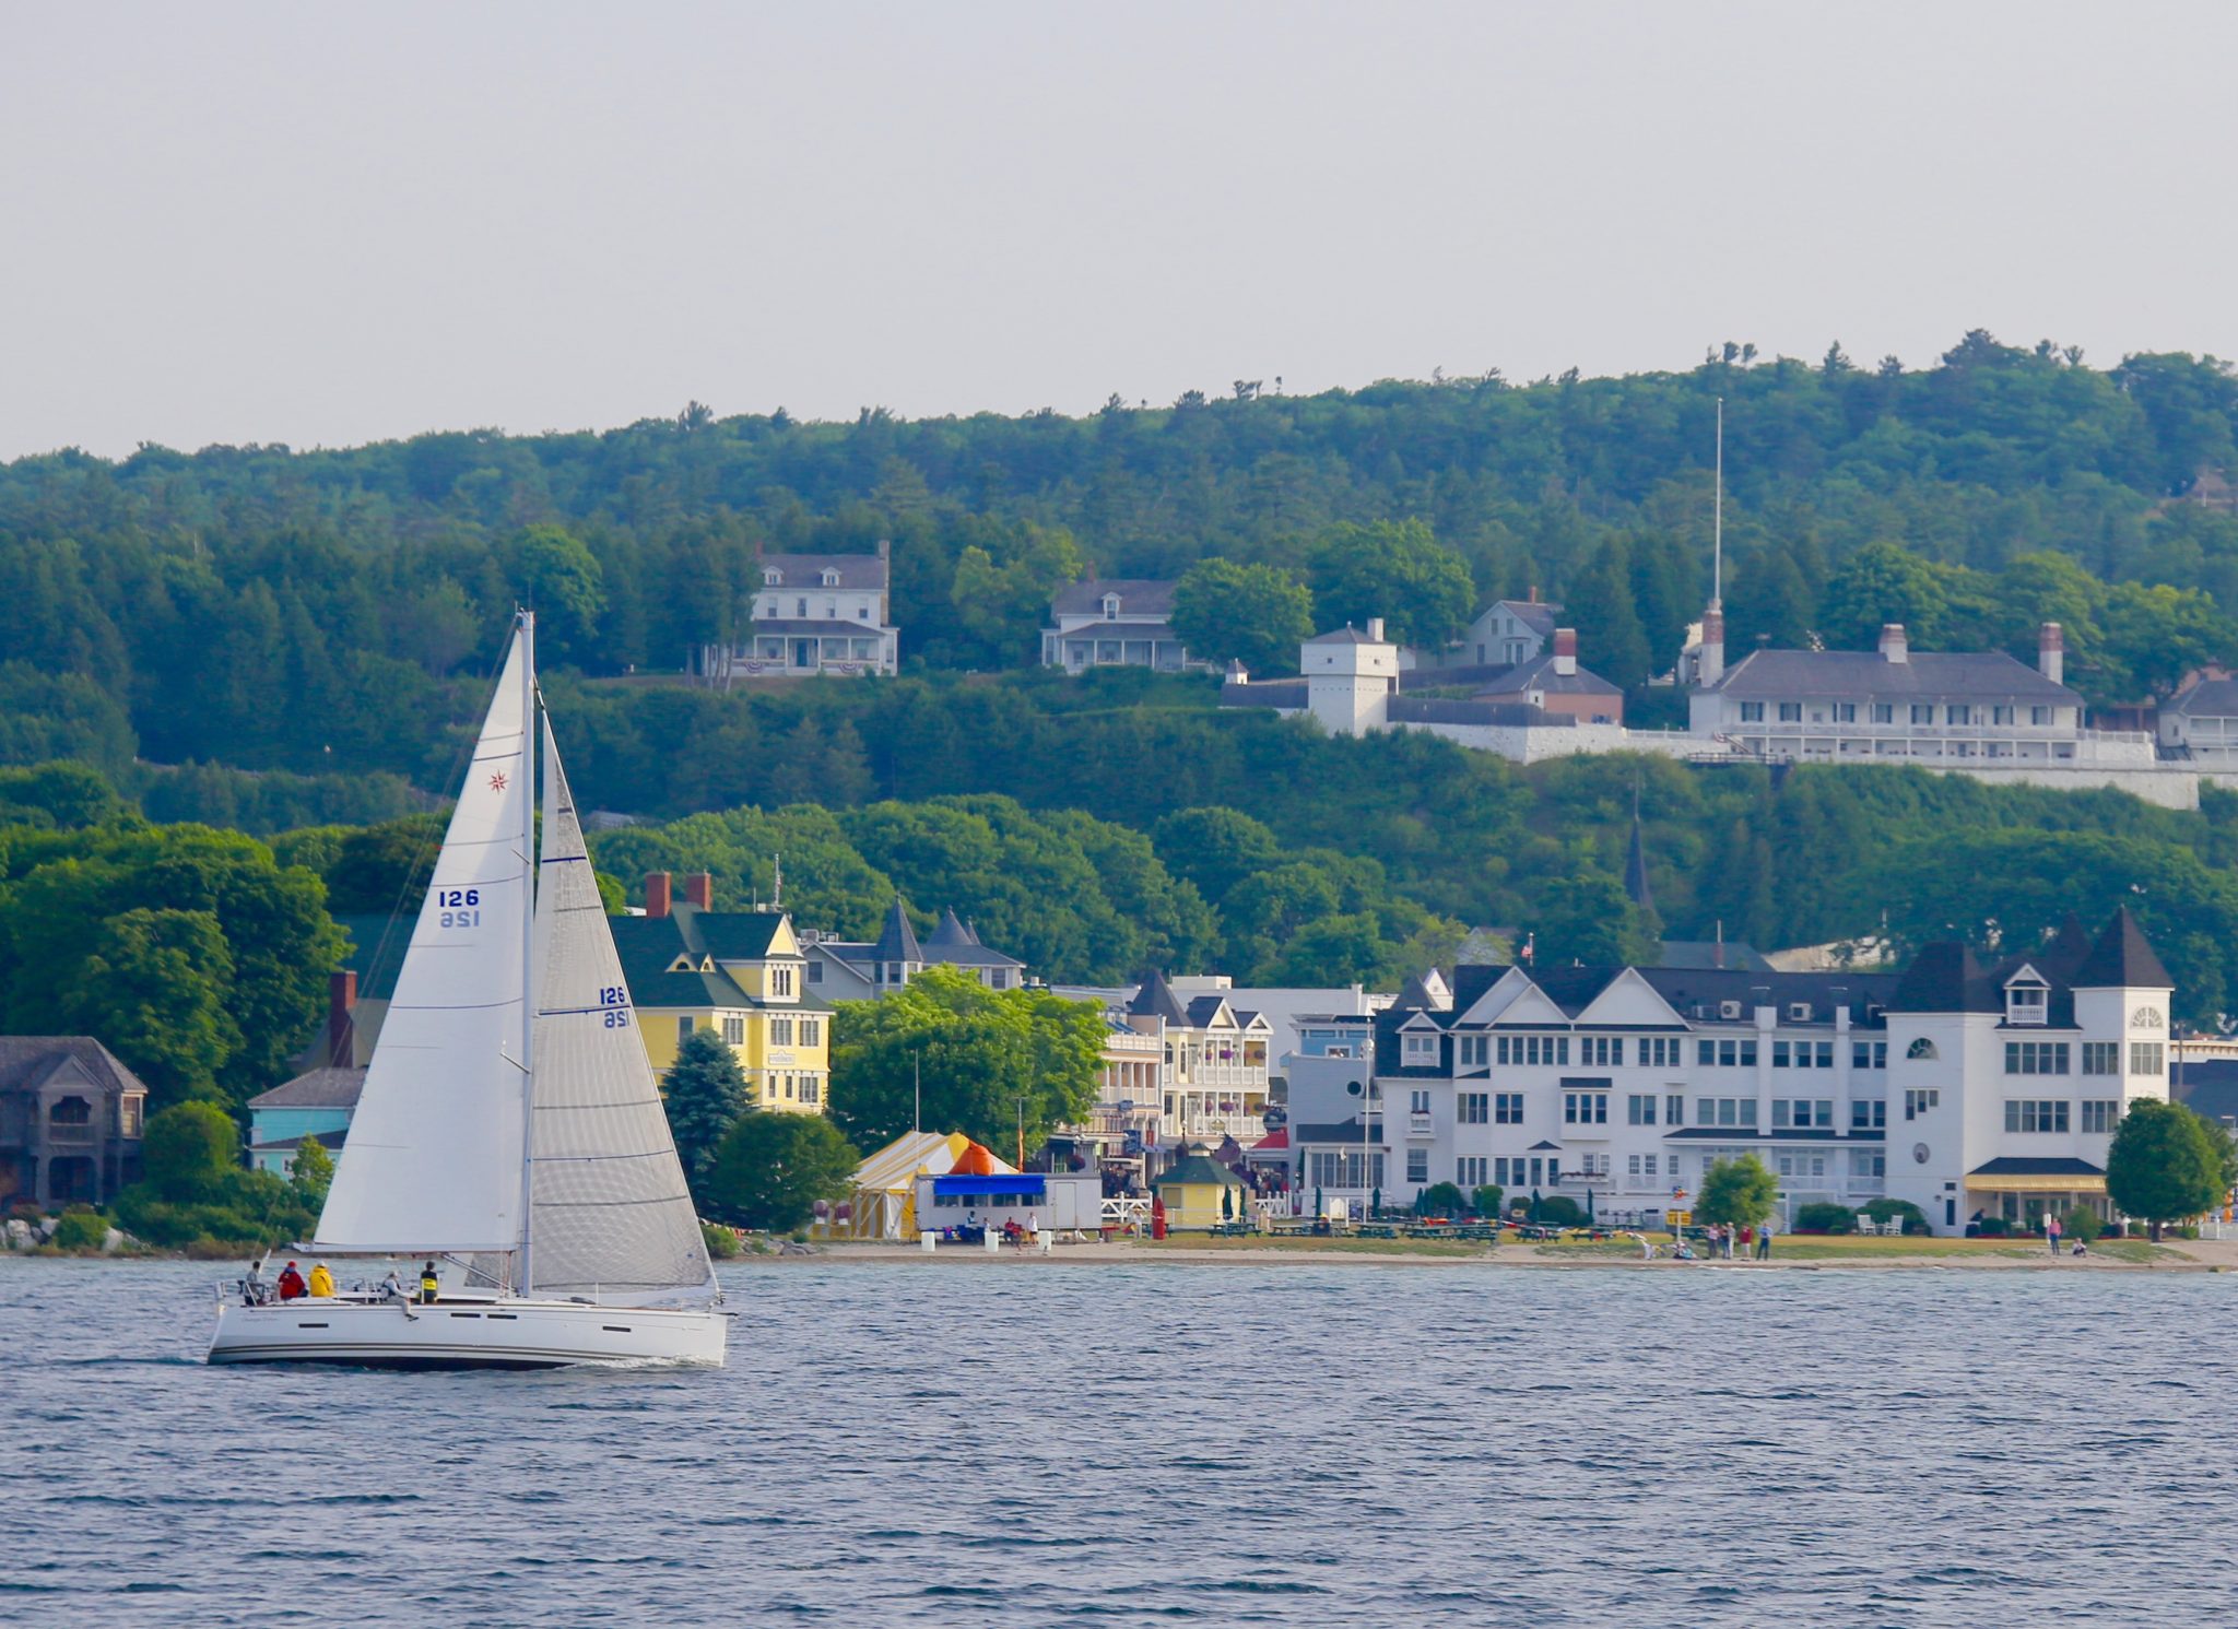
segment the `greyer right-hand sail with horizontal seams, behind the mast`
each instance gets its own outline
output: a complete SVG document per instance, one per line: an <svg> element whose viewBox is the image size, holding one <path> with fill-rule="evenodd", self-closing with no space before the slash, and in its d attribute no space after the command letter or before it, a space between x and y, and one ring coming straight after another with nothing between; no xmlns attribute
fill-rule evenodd
<svg viewBox="0 0 2238 1629"><path fill-rule="evenodd" d="M698 1213L548 723L542 846L530 1289L600 1302L705 1296L714 1271Z"/></svg>

